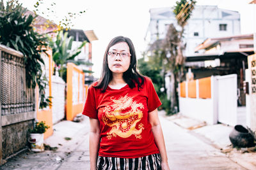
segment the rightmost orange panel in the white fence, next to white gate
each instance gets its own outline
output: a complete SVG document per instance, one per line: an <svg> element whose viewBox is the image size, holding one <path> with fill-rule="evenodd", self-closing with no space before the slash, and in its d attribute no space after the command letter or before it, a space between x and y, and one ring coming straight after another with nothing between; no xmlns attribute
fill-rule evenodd
<svg viewBox="0 0 256 170"><path fill-rule="evenodd" d="M200 78L199 84L199 98L211 98L211 77Z"/></svg>

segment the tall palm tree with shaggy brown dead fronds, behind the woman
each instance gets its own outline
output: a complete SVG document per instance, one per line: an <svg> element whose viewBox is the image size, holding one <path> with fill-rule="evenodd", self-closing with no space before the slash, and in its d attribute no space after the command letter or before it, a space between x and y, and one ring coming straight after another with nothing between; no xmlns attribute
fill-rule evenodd
<svg viewBox="0 0 256 170"><path fill-rule="evenodd" d="M166 52L166 60L170 69L172 77L172 90L171 90L171 108L173 111L179 111L179 95L177 92L178 82L183 75L184 69L184 56L182 50L185 46L182 42L184 27L188 23L193 9L195 8L196 1L193 0L180 0L176 2L173 13L177 19L177 24L180 26L180 31L170 24L166 38L164 39L164 49ZM177 110L174 108L177 107Z"/></svg>

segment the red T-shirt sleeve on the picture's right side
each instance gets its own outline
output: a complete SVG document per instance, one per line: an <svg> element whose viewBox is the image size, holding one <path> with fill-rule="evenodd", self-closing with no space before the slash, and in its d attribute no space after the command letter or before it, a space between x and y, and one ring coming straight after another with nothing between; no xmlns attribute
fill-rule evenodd
<svg viewBox="0 0 256 170"><path fill-rule="evenodd" d="M157 96L156 90L150 78L146 78L147 92L148 92L148 112L156 110L161 106L161 101Z"/></svg>

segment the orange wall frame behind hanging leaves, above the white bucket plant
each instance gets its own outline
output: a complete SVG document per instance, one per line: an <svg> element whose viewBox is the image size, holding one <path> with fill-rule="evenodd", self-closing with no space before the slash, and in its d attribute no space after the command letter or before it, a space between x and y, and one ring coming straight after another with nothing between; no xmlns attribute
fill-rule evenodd
<svg viewBox="0 0 256 170"><path fill-rule="evenodd" d="M47 50L46 52L49 56L49 96L52 96L52 51ZM47 129L47 131L44 133L44 139L48 138L52 135L53 129L52 129L52 106L49 106L48 109L39 110L39 89L38 86L36 86L36 119L38 122L44 121L46 125L48 125L50 128ZM51 101L51 98L50 98Z"/></svg>

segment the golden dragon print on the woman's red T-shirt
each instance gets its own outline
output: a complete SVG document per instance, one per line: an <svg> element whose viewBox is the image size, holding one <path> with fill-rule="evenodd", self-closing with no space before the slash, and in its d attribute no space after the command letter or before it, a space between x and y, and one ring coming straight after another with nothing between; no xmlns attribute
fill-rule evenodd
<svg viewBox="0 0 256 170"><path fill-rule="evenodd" d="M132 100L132 97L127 95L120 97L119 99L113 99L113 104L111 106L106 106L104 112L105 116L102 117L104 124L112 127L108 132L108 139L112 137L120 136L121 138L128 138L132 134L136 138L141 139L141 132L144 129L144 125L141 123L136 129L136 124L140 122L143 117L143 113L140 109L144 106L141 103L136 103ZM124 110L131 110L124 112Z"/></svg>

